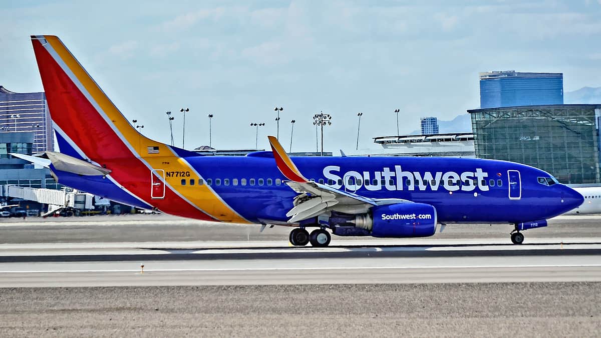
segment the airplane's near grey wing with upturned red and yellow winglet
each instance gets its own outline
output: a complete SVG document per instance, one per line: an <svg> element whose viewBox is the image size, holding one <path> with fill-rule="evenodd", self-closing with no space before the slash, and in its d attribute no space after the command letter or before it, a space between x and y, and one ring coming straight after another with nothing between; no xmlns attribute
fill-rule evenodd
<svg viewBox="0 0 601 338"><path fill-rule="evenodd" d="M364 197L310 181L294 165L290 156L288 156L275 137L269 136L269 143L271 144L273 157L279 171L289 180L285 183L299 193L294 198L294 207L286 214L287 217L290 217L288 223L297 223L329 211L343 212L345 214L364 214L373 206L412 203L409 200L400 198Z"/></svg>

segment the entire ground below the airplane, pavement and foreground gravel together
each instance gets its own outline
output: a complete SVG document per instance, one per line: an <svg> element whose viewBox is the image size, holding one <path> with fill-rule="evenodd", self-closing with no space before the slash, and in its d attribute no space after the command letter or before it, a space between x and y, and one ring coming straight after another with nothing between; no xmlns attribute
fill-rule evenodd
<svg viewBox="0 0 601 338"><path fill-rule="evenodd" d="M164 215L0 220L0 336L598 336L599 217L550 224L297 248Z"/></svg>

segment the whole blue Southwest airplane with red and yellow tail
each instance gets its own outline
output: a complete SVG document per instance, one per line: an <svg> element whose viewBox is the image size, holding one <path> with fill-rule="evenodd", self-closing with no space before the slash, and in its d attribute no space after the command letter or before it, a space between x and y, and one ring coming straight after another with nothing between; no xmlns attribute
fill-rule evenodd
<svg viewBox="0 0 601 338"><path fill-rule="evenodd" d="M31 37L60 153L43 159L63 185L198 220L294 227L293 245L338 236L432 236L437 224L522 230L582 203L527 165L459 158L290 158L272 151L201 156L136 131L58 37ZM23 156L22 156L23 157ZM307 228L315 228L311 233Z"/></svg>

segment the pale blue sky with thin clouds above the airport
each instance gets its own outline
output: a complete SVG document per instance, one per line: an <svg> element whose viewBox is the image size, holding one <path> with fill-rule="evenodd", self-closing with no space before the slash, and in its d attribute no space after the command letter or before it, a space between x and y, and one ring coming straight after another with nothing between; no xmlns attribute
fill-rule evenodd
<svg viewBox="0 0 601 338"><path fill-rule="evenodd" d="M175 146L377 149L373 137L451 120L480 103L478 72L562 72L601 87L601 0L0 0L0 85L43 91L29 41L58 35L129 120Z"/></svg>

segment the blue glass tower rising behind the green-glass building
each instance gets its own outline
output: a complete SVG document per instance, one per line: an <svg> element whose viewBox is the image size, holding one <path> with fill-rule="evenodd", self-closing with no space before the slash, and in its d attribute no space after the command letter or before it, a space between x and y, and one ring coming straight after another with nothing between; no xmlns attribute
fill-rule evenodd
<svg viewBox="0 0 601 338"><path fill-rule="evenodd" d="M480 73L480 108L563 104L563 73Z"/></svg>

